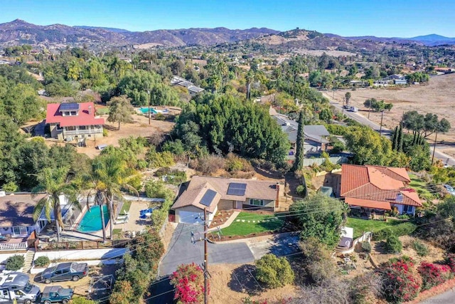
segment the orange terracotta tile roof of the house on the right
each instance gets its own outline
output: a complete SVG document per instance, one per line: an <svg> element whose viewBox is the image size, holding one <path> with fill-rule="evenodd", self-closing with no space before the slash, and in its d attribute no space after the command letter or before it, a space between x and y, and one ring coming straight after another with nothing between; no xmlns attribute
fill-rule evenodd
<svg viewBox="0 0 455 304"><path fill-rule="evenodd" d="M363 199L365 204L373 204L371 201L385 201L389 204L422 206L415 190L406 188L409 182L410 178L404 168L343 164L340 195L345 198ZM402 201L397 201L398 194L402 194Z"/></svg>

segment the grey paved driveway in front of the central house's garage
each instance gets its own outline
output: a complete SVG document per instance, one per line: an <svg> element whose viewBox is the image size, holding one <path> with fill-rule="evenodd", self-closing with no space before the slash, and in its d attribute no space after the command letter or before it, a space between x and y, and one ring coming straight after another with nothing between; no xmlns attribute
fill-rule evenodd
<svg viewBox="0 0 455 304"><path fill-rule="evenodd" d="M159 266L159 276L165 276L176 271L180 264L203 263L204 242L191 242L191 231L196 239L203 237L203 226L193 224L178 224L173 232L168 251ZM255 261L252 251L247 243L208 244L208 263L244 264Z"/></svg>

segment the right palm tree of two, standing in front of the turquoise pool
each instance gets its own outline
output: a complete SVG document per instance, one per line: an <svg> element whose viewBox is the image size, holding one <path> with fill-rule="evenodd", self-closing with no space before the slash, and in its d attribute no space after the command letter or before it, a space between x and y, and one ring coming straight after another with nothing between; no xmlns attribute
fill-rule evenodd
<svg viewBox="0 0 455 304"><path fill-rule="evenodd" d="M105 219L102 211L102 206L107 205L109 211L109 233L112 239L112 230L114 218L117 215L117 204L114 197L122 198L121 189L128 189L135 194L139 194L134 187L129 184L129 174L127 170L127 162L112 154L102 154L97 157L92 165L92 174L86 177L90 184L90 189L95 190L95 201L100 205L103 241L106 240Z"/></svg>

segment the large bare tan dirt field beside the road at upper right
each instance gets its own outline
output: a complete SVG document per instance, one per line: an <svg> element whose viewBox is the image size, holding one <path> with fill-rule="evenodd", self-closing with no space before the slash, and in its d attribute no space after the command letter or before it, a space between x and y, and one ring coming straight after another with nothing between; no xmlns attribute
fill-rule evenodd
<svg viewBox="0 0 455 304"><path fill-rule="evenodd" d="M342 101L348 90L335 92L335 100ZM432 112L439 119L446 118L451 123L451 130L445 135L438 135L438 140L455 142L455 74L441 75L429 80L428 85L412 85L409 88L378 88L349 90L351 94L350 104L359 108L359 114L368 116L363 103L368 98L384 100L392 103L390 112L384 112L385 127L394 128L400 121L403 112L417 110L425 114ZM333 93L328 96L332 99ZM371 112L370 120L380 123L380 113Z"/></svg>

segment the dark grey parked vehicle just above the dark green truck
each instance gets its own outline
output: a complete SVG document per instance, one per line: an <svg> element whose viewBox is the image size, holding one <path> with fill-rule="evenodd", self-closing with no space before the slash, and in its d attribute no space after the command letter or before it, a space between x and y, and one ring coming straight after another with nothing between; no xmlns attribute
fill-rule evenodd
<svg viewBox="0 0 455 304"><path fill-rule="evenodd" d="M87 263L60 263L57 266L46 268L41 273L41 281L49 284L55 281L79 281L88 275Z"/></svg>

